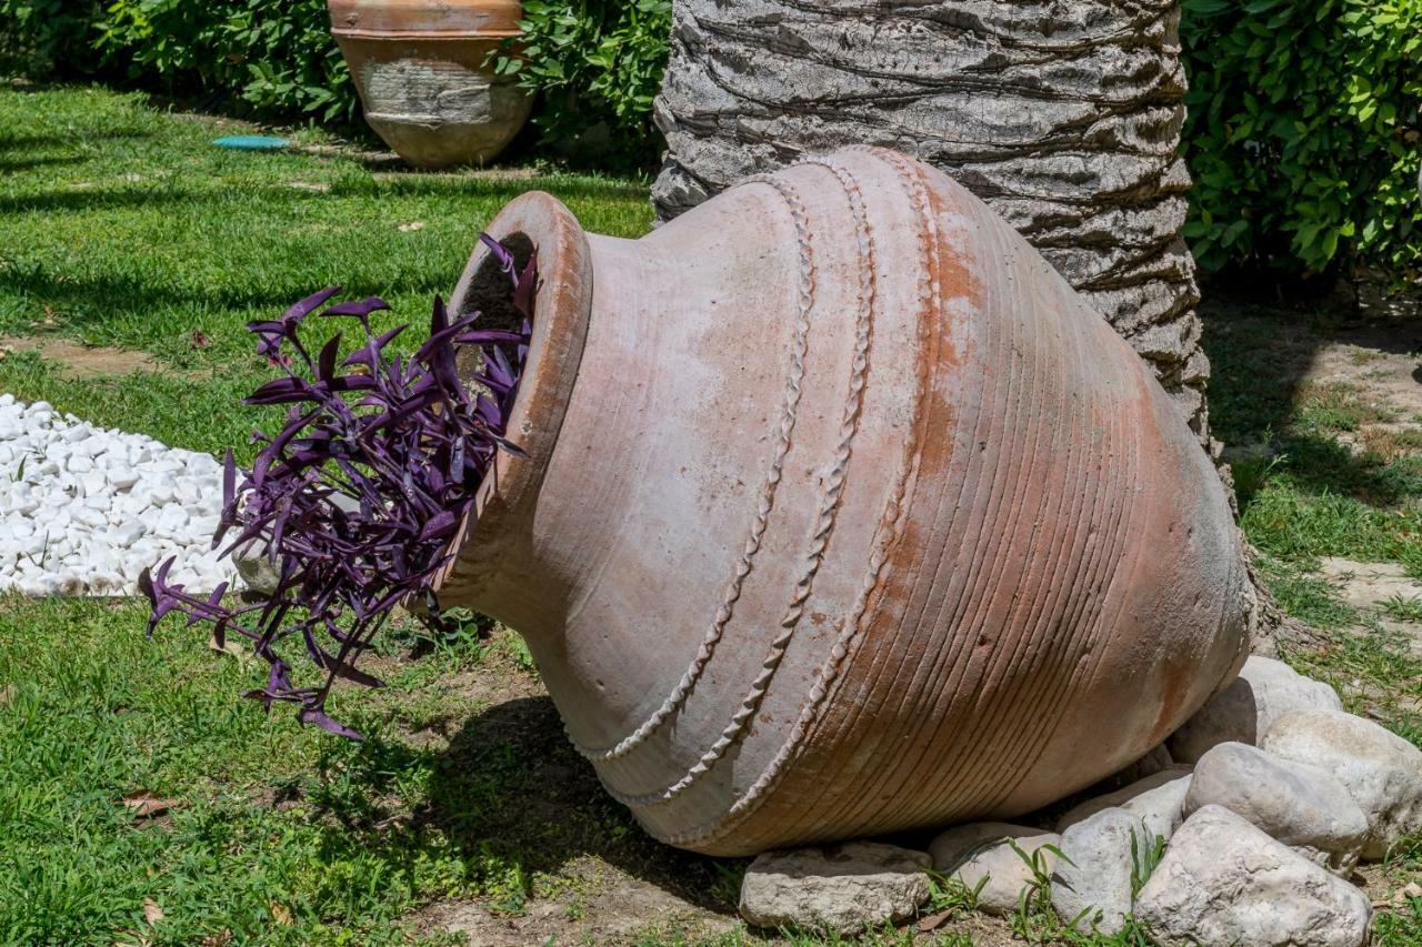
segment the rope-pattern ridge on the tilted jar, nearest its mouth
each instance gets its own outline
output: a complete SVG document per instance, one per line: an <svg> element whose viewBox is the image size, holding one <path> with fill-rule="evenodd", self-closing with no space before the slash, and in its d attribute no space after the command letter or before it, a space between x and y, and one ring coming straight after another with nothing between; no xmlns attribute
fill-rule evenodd
<svg viewBox="0 0 1422 947"><path fill-rule="evenodd" d="M744 549L741 550L741 557L735 566L735 574L727 587L721 606L717 609L715 620L711 623L701 646L697 648L695 657L681 674L681 678L671 690L671 694L667 695L667 700L663 701L661 707L658 707L651 717L643 721L637 729L610 748L596 748L580 744L573 738L572 729L565 724L563 729L573 742L573 748L577 749L577 752L586 759L593 762L611 762L626 756L638 745L644 744L647 738L667 721L667 718L681 710L687 697L691 695L691 690L695 687L695 683L700 680L707 664L711 663L711 657L715 654L717 644L721 641L725 626L731 621L731 616L735 611L735 603L741 597L741 587L745 583L745 577L751 574L752 559L761 549L761 540L764 539L765 529L769 523L771 509L775 506L775 492L784 475L785 456L791 449L791 434L795 429L795 418L801 400L801 385L805 380L805 353L809 346L811 311L815 309L816 272L815 256L811 249L809 222L805 213L805 205L801 200L799 193L791 185L778 181L771 175L757 175L754 178L748 178L745 183L769 185L776 191L776 193L779 193L781 199L785 200L785 205L791 212L791 220L795 226L795 239L799 245L799 273L796 284L799 313L795 320L795 337L791 344L791 370L785 382L785 397L781 408L775 452L771 459L771 468L765 475L765 483L762 485L759 498L757 499L755 522L752 523L751 533L745 540Z"/></svg>

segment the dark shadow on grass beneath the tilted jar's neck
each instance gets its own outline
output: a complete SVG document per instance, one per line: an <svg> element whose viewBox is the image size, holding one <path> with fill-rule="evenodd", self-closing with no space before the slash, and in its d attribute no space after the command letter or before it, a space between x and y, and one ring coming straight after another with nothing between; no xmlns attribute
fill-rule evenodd
<svg viewBox="0 0 1422 947"><path fill-rule="evenodd" d="M373 738L348 778L326 781L310 802L340 828L324 857L373 853L412 873L437 852L452 853L461 879L492 907L518 909L536 874L555 874L586 856L616 866L712 911L735 904L720 887L725 862L664 846L647 836L597 782L563 735L547 697L515 698L468 719L448 749L431 752ZM395 774L429 774L425 803L391 819Z"/></svg>

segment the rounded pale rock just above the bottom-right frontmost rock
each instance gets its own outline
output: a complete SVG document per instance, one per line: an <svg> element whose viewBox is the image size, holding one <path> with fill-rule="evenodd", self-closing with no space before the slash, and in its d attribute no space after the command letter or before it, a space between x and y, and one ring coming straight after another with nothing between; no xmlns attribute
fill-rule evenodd
<svg viewBox="0 0 1422 947"><path fill-rule="evenodd" d="M1213 747L1194 765L1185 812L1207 805L1224 806L1344 877L1368 838L1362 809L1331 774L1244 744Z"/></svg>

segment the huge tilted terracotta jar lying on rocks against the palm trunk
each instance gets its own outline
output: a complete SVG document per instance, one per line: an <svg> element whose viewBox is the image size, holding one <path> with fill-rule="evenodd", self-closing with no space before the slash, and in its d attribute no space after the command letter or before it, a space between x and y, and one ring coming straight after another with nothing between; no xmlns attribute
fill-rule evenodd
<svg viewBox="0 0 1422 947"><path fill-rule="evenodd" d="M1246 573L1210 461L940 172L849 149L640 240L545 193L489 229L539 252L528 456L498 461L441 597L528 637L658 839L1014 816L1234 677ZM455 304L503 279L475 253Z"/></svg>

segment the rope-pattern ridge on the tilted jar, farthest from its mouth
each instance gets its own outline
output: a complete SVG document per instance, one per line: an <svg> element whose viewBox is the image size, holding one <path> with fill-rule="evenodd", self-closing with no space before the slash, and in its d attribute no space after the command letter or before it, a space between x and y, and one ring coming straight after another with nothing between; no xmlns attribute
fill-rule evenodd
<svg viewBox="0 0 1422 947"><path fill-rule="evenodd" d="M860 151L855 148L853 151ZM923 185L923 179L912 169L899 161L894 161L896 155L880 148L863 146L862 151L866 154L886 161L897 172L899 182L909 193L910 203L916 212L920 222L917 229L919 240L919 259L927 262L930 255L939 252L939 235L937 223L929 210L927 189ZM931 237L931 242L930 242ZM931 279L924 274L924 270L931 267L920 267L919 270L919 337L923 341L931 333L931 317L933 317L933 303L941 294L941 286L939 284L937 272L933 270ZM923 353L919 357L919 365L914 380L914 395L913 395L913 417L909 422L909 432L904 439L904 446L900 454L899 468L894 471L894 486L884 502L883 513L880 515L879 525L875 528L875 537L872 545L872 552L869 557L869 569L866 572L865 583L859 590L859 596L855 600L855 607L845 621L845 627L835 644L830 647L829 658L820 665L816 674L815 685L809 691L809 700L801 710L799 718L795 721L795 727L791 729L781 749L771 759L765 771L757 776L755 782L747 788L745 793L737 799L727 812L720 815L712 822L702 823L697 828L688 829L685 832L678 832L665 839L670 845L693 845L704 843L710 839L724 836L731 832L742 819L751 815L751 812L761 803L761 801L769 795L771 791L779 783L781 778L786 772L786 765L791 759L801 751L805 742L805 737L809 734L811 728L818 722L819 714L826 704L829 697L829 688L833 685L835 680L839 677L845 658L849 657L849 647L853 640L859 636L862 630L862 623L865 614L869 611L869 600L875 590L879 587L880 577L883 574L883 567L889 562L889 550L897 545L899 537L903 532L904 523L904 495L909 489L909 481L917 465L919 456L919 439L920 427L923 421L923 404L927 397L929 377L931 375L931 365L929 364L929 347L920 346Z"/></svg>

